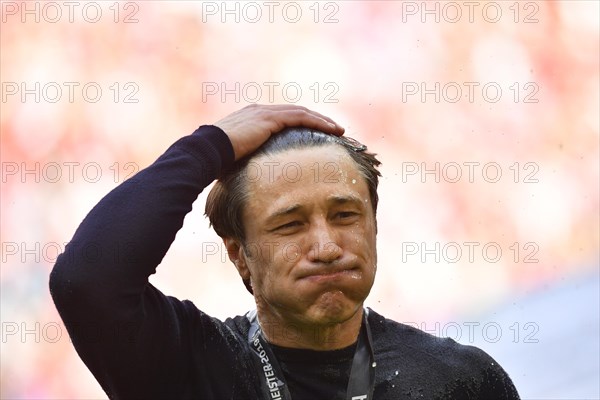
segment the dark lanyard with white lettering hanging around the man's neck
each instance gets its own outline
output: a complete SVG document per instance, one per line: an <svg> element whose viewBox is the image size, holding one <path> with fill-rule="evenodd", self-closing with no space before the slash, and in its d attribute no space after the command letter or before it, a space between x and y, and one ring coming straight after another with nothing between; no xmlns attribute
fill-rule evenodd
<svg viewBox="0 0 600 400"><path fill-rule="evenodd" d="M346 400L372 400L373 398L376 363L367 314L368 309L365 308L346 389ZM263 399L292 400L283 371L260 329L256 310L246 314L246 318L250 322L248 343L258 366Z"/></svg>

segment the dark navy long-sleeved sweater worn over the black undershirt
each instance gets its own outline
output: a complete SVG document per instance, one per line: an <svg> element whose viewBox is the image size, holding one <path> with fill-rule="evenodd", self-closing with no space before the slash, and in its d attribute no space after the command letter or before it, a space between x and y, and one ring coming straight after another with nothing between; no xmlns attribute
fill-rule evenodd
<svg viewBox="0 0 600 400"><path fill-rule="evenodd" d="M225 133L200 127L105 196L58 257L53 300L110 398L261 398L248 320L219 321L148 282L198 194L233 161ZM506 372L482 350L374 311L368 318L375 399L518 399ZM344 399L352 347L273 348L293 400Z"/></svg>

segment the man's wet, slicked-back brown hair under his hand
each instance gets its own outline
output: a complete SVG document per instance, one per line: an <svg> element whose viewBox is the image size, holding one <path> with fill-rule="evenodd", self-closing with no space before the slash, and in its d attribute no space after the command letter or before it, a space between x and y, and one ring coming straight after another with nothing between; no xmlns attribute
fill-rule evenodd
<svg viewBox="0 0 600 400"><path fill-rule="evenodd" d="M242 216L249 197L247 168L252 160L291 149L330 145L344 148L355 162L367 182L373 215L376 215L377 185L381 176L377 167L381 162L375 154L367 151L367 146L347 136L328 135L303 127L286 128L271 136L254 153L236 161L233 167L224 171L215 182L206 200L205 214L217 235L238 240L241 245L245 244L246 235Z"/></svg>

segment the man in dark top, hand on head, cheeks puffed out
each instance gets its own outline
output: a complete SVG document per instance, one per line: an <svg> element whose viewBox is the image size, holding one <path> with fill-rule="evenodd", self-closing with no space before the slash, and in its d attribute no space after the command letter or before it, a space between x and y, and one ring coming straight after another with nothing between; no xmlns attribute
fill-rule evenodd
<svg viewBox="0 0 600 400"><path fill-rule="evenodd" d="M96 205L50 290L110 398L518 398L483 351L363 308L379 161L342 134L302 107L248 106ZM206 213L257 307L225 322L148 283L216 178Z"/></svg>

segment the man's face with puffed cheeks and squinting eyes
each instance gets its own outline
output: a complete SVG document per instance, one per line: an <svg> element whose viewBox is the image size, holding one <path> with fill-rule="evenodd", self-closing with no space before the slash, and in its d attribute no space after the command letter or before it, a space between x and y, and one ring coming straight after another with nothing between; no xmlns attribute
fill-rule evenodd
<svg viewBox="0 0 600 400"><path fill-rule="evenodd" d="M377 265L375 216L337 145L262 156L247 169L245 262L259 311L329 325L350 319Z"/></svg>

